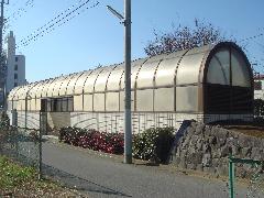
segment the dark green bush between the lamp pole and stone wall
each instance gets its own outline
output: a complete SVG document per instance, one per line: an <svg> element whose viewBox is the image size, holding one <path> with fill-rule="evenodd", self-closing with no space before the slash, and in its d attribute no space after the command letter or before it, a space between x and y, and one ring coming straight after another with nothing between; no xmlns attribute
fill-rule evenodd
<svg viewBox="0 0 264 198"><path fill-rule="evenodd" d="M167 163L174 141L174 128L148 129L133 138L133 156L155 163Z"/></svg>

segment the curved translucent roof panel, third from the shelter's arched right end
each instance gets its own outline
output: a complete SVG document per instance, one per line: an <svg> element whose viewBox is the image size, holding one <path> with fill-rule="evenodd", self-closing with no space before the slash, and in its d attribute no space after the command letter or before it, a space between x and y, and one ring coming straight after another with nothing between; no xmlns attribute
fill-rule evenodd
<svg viewBox="0 0 264 198"><path fill-rule="evenodd" d="M141 67L138 79L136 79L136 88L150 88L153 87L153 79L155 75L155 70L165 55L160 55L147 59Z"/></svg>

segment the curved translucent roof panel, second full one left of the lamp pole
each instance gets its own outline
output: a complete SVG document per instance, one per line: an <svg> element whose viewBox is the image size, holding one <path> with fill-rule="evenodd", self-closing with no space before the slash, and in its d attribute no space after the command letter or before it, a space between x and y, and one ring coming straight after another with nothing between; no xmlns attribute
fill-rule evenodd
<svg viewBox="0 0 264 198"><path fill-rule="evenodd" d="M95 92L106 91L107 80L116 66L105 67L103 72L99 74L95 85Z"/></svg>

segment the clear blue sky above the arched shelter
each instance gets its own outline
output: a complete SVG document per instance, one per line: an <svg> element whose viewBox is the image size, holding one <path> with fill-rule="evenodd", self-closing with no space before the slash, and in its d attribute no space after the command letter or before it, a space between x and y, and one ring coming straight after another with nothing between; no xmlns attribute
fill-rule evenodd
<svg viewBox="0 0 264 198"><path fill-rule="evenodd" d="M86 0L10 0L6 16L11 15L8 31L16 43L32 34L79 1ZM96 3L90 0L89 4ZM26 57L26 79L36 81L62 74L123 62L123 26L106 6L123 11L123 0L98 0L96 8L44 34L16 53ZM24 9L20 14L16 11ZM144 46L154 37L153 30L167 32L175 26L194 25L195 19L212 23L238 41L264 33L263 0L132 0L132 58L144 57ZM256 69L264 73L264 36L241 42Z"/></svg>

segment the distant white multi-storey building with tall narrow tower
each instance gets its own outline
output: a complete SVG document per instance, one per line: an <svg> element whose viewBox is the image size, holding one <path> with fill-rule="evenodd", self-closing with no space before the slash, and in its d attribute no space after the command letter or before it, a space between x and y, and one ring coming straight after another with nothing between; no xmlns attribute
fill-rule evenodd
<svg viewBox="0 0 264 198"><path fill-rule="evenodd" d="M24 85L25 81L25 56L15 55L15 37L10 31L8 36L7 53L7 95L16 86Z"/></svg>

